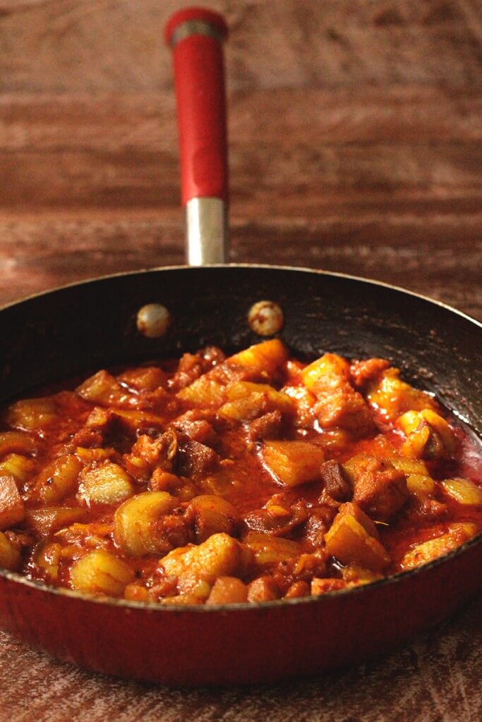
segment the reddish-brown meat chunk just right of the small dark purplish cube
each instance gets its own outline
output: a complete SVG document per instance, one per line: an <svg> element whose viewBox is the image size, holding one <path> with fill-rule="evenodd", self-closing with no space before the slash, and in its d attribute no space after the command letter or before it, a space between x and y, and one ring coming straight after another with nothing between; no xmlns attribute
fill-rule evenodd
<svg viewBox="0 0 482 722"><path fill-rule="evenodd" d="M353 483L353 501L376 521L390 521L408 500L403 471L389 461L360 454L345 464Z"/></svg>

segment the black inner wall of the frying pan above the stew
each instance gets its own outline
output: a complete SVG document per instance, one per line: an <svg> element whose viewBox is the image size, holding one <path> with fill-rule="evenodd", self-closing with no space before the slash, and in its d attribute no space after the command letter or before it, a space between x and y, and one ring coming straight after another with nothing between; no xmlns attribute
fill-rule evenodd
<svg viewBox="0 0 482 722"><path fill-rule="evenodd" d="M259 266L141 271L7 306L0 311L0 400L109 365L205 344L231 351L256 343L246 316L263 299L283 308L280 337L298 355L387 357L482 433L481 324L363 279ZM137 331L137 311L146 303L171 312L162 339Z"/></svg>

